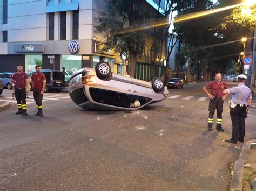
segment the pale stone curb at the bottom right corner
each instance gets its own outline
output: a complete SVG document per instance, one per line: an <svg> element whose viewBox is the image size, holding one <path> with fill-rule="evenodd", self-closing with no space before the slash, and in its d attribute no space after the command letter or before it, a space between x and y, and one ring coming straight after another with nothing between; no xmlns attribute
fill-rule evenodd
<svg viewBox="0 0 256 191"><path fill-rule="evenodd" d="M242 179L244 177L244 164L248 160L251 143L256 142L256 139L249 140L242 146L242 151L239 159L235 161L234 172L231 180L230 191L242 190Z"/></svg>

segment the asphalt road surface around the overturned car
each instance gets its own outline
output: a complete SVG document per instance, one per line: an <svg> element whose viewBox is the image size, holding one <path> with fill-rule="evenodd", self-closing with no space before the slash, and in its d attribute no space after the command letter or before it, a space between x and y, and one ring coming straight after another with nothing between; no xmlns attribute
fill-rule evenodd
<svg viewBox="0 0 256 191"><path fill-rule="evenodd" d="M45 95L42 118L32 101L29 116L14 115L12 103L0 112L0 189L227 190L242 144L224 142L227 100L225 132L207 131L204 84L170 89L171 98L131 114L84 111L64 93ZM0 100L8 97L5 89ZM245 141L256 137L255 114Z"/></svg>

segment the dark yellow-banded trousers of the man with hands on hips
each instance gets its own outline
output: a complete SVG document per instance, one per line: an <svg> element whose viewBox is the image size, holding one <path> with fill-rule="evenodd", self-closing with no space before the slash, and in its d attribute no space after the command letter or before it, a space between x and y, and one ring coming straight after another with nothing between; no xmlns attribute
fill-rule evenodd
<svg viewBox="0 0 256 191"><path fill-rule="evenodd" d="M221 128L222 123L222 112L223 112L223 100L221 98L215 98L215 100L209 101L209 117L208 117L208 128L212 128L213 115L217 110L217 128Z"/></svg>

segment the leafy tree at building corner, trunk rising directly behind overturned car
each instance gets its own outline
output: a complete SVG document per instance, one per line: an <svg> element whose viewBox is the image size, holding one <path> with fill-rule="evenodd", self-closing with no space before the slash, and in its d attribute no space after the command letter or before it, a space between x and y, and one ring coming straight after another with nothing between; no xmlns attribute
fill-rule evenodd
<svg viewBox="0 0 256 191"><path fill-rule="evenodd" d="M98 32L104 32L104 40L100 43L100 50L114 49L117 53L127 53L130 60L129 75L134 77L137 58L145 49L144 27L149 17L144 1L140 0L109 0L106 9L100 13Z"/></svg>

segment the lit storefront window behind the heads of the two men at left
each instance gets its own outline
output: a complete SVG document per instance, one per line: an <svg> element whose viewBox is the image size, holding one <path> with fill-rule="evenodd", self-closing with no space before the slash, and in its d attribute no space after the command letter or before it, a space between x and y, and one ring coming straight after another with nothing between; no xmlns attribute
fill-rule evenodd
<svg viewBox="0 0 256 191"><path fill-rule="evenodd" d="M36 65L39 65L43 68L43 56L42 55L25 55L25 71L30 73L35 71Z"/></svg>

